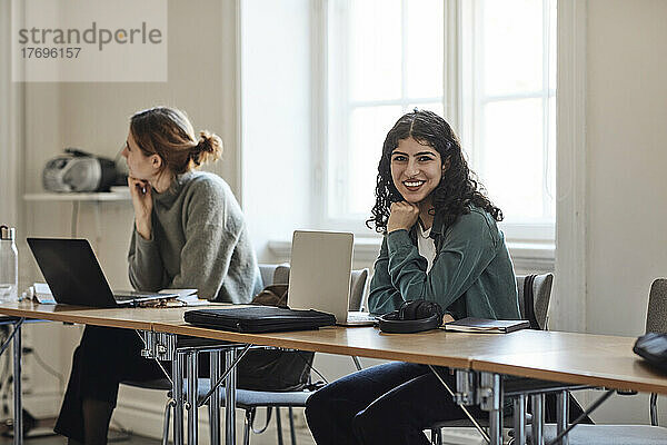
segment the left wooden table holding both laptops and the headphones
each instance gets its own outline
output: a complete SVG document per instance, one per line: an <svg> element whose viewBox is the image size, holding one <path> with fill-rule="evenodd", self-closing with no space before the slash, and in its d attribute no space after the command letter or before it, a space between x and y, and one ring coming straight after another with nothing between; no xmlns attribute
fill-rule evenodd
<svg viewBox="0 0 667 445"><path fill-rule="evenodd" d="M216 307L225 306L229 307L229 305L216 305ZM165 350L162 358L173 358L172 375L182 375L183 372L187 372L190 377L187 379L189 385L193 385L197 382L197 378L192 378L192 376L197 375L196 356L192 354L195 349L182 348L175 350L177 345L175 338L178 335L209 338L228 343L228 345L225 346L227 363L231 363L236 359L238 350L241 349L243 345L272 346L389 360L405 360L436 366L449 366L451 368L469 368L470 355L474 352L492 352L492 347L484 348L484 344L487 342L484 342L479 336L459 334L457 335L457 342L454 343L447 340L447 336L451 337L452 334L445 332L402 336L379 334L379 332L372 327L328 327L311 332L251 335L205 329L187 325L182 322L183 313L189 309L191 308L93 309L64 305L38 305L30 301L0 305L0 314L17 317L17 320L36 318L162 334L162 337L152 340L152 346L156 349L162 348L162 350ZM17 326L18 335L14 338L20 338L20 324ZM172 350L169 350L170 348ZM20 347L18 350L20 352ZM14 354L14 372L20 373L20 354L18 356ZM211 379L213 380L218 375L218 373L211 375ZM236 423L233 422L235 383L236 368L231 367L229 376L226 379L228 397L226 407L226 443L230 444L233 444L236 439ZM173 379L172 393L176 398L173 422L175 442L181 444L183 443L183 431L181 425L183 419L182 402L185 400L182 396L182 386L176 378ZM190 397L188 400L189 406L196 405L196 386L188 387L188 396ZM20 397L18 397L18 400L20 402ZM18 412L20 413L20 403ZM14 413L14 417L16 415L17 413ZM188 416L189 443L197 442L196 421L196 409L191 408L190 415ZM14 436L14 443L21 444L21 435L17 434Z"/></svg>

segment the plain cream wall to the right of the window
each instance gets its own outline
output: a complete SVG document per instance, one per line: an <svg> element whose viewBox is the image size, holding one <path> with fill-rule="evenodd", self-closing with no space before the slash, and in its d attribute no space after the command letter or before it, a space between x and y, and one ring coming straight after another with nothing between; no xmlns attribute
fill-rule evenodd
<svg viewBox="0 0 667 445"><path fill-rule="evenodd" d="M637 336L667 276L667 2L589 0L587 16L586 328ZM646 423L647 397L594 418Z"/></svg>

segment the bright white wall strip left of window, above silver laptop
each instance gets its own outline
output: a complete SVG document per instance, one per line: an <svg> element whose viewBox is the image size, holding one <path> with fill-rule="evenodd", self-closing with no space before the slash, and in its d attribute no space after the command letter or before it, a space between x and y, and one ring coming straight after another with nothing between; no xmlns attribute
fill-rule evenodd
<svg viewBox="0 0 667 445"><path fill-rule="evenodd" d="M241 1L243 210L260 261L309 222L309 17L308 0Z"/></svg>

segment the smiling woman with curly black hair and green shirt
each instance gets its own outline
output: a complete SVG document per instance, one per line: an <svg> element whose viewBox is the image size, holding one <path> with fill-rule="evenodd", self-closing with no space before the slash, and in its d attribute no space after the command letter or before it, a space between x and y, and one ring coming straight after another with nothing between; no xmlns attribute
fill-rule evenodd
<svg viewBox="0 0 667 445"><path fill-rule="evenodd" d="M480 191L441 117L415 109L391 128L371 214L367 224L384 235L371 313L426 299L438 303L447 320L519 318L514 268L496 225L502 214ZM456 387L447 368L437 370ZM430 368L410 363L379 365L325 386L308 399L306 416L319 445L428 444L422 431L434 422L465 418Z"/></svg>

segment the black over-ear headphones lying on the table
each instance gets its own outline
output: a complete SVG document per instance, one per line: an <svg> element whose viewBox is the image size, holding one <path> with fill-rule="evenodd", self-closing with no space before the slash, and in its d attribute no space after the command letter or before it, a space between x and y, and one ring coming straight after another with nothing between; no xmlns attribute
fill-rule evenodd
<svg viewBox="0 0 667 445"><path fill-rule="evenodd" d="M398 310L380 316L378 325L384 333L420 333L440 327L444 315L445 310L436 301L414 299L404 301Z"/></svg>

